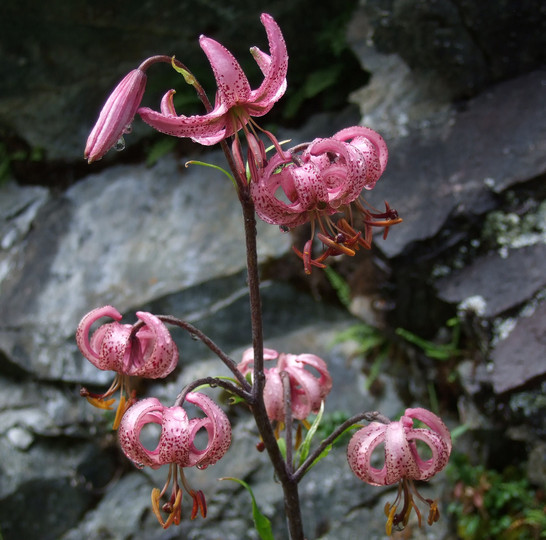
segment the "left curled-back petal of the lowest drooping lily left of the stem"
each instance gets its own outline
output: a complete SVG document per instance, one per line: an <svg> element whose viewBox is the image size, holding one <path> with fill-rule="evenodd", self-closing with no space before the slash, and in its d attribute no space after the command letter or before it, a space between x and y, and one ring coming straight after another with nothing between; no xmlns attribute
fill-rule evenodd
<svg viewBox="0 0 546 540"><path fill-rule="evenodd" d="M162 423L164 407L156 398L137 401L123 415L118 428L118 437L123 453L139 468L147 465L157 469L163 463L159 450L148 450L140 441L142 428L149 423Z"/></svg>

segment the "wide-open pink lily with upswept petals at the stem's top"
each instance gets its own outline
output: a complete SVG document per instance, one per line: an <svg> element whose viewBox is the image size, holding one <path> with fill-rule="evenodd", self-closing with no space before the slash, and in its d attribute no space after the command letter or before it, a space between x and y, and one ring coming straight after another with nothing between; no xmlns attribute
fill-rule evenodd
<svg viewBox="0 0 546 540"><path fill-rule="evenodd" d="M281 30L273 17L261 16L269 41L271 55L252 47L251 53L264 75L262 84L252 90L239 62L220 43L201 36L199 44L212 67L218 86L215 105L205 115L178 116L174 104L174 90L165 94L161 112L143 107L138 110L142 119L153 128L174 135L190 137L210 146L235 134L252 116L263 116L282 97L286 90L288 54Z"/></svg>

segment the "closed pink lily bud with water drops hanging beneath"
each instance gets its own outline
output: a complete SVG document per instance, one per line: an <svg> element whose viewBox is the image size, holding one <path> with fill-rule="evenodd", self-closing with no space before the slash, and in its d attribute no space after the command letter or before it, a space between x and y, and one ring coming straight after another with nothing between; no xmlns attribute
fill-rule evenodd
<svg viewBox="0 0 546 540"><path fill-rule="evenodd" d="M101 159L130 131L145 88L146 74L141 68L133 69L116 86L87 139L84 157L88 163Z"/></svg>

